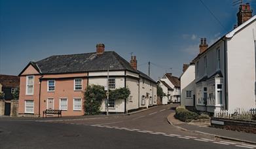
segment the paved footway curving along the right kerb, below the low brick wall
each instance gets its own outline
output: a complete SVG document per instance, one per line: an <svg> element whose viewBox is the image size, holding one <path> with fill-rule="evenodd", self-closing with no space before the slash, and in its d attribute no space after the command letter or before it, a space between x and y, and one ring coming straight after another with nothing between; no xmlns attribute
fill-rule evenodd
<svg viewBox="0 0 256 149"><path fill-rule="evenodd" d="M191 125L185 122L181 122L174 117L175 111L173 110L168 116L168 122L172 125L177 126L179 129L184 131L191 131L194 133L204 133L206 135L213 135L222 139L228 139L233 141L249 142L256 144L256 134L244 133L238 131L231 131L226 129L218 129L215 127L208 127L206 125Z"/></svg>

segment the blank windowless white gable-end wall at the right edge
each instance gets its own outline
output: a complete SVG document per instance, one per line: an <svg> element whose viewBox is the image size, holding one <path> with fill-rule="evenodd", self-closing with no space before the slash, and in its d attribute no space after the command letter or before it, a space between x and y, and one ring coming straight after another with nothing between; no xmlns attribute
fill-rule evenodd
<svg viewBox="0 0 256 149"><path fill-rule="evenodd" d="M227 40L229 110L255 108L255 26L253 21Z"/></svg>

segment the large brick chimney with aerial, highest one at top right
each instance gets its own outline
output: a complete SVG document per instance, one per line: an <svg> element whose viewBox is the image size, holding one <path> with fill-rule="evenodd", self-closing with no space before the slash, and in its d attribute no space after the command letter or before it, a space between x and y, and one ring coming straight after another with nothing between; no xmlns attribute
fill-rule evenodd
<svg viewBox="0 0 256 149"><path fill-rule="evenodd" d="M236 14L238 19L238 26L249 20L252 17L252 14L253 10L251 10L249 3L240 5L239 11Z"/></svg>

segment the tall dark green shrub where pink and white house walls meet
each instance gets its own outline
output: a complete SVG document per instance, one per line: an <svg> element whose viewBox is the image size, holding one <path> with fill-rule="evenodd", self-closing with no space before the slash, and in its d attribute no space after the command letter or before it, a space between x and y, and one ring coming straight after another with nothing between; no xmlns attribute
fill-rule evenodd
<svg viewBox="0 0 256 149"><path fill-rule="evenodd" d="M84 93L84 114L94 115L100 113L103 99L106 98L104 86L92 85Z"/></svg>

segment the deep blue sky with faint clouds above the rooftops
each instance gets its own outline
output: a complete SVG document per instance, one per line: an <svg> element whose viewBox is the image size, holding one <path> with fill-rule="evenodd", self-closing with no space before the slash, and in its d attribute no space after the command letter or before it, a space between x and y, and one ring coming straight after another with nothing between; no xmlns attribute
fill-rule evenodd
<svg viewBox="0 0 256 149"><path fill-rule="evenodd" d="M236 24L232 0L202 1L223 27L199 0L0 0L0 74L17 75L52 55L95 52L103 42L128 61L133 52L145 73L151 61L154 79L179 76L200 37L212 44Z"/></svg>

